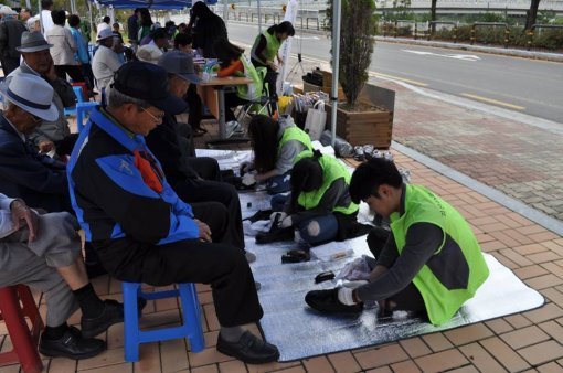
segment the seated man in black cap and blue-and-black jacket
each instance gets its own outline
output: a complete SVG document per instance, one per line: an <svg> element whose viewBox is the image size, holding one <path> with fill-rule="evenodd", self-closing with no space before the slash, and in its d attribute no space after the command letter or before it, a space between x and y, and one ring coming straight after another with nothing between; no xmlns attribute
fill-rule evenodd
<svg viewBox="0 0 563 373"><path fill-rule="evenodd" d="M73 207L108 273L119 280L166 286L211 284L221 330L217 350L247 363L276 361L279 352L244 330L263 316L243 253L211 243L209 226L168 184L144 136L164 113L185 103L169 93L167 72L131 62L109 86L68 163Z"/></svg>

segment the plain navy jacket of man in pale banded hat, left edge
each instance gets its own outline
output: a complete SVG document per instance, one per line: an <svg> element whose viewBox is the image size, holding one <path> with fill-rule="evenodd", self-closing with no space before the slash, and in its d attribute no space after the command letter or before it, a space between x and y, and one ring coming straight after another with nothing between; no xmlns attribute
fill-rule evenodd
<svg viewBox="0 0 563 373"><path fill-rule="evenodd" d="M23 142L0 116L0 193L49 212L72 211L65 164Z"/></svg>

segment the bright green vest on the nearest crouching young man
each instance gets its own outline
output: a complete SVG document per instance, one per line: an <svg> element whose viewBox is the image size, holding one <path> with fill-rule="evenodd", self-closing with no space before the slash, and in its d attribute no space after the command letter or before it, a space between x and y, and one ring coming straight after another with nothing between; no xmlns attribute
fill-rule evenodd
<svg viewBox="0 0 563 373"><path fill-rule="evenodd" d="M424 186L406 185L405 213L390 216L399 254L406 243L408 227L432 223L442 228L445 239L414 277L431 322L448 321L489 276L479 243L461 214Z"/></svg>

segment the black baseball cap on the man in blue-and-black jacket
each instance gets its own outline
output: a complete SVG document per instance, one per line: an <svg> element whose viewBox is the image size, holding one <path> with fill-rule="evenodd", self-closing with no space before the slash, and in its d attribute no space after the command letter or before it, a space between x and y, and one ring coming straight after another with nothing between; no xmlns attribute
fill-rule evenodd
<svg viewBox="0 0 563 373"><path fill-rule="evenodd" d="M111 87L124 95L146 100L167 114L185 110L185 100L170 94L168 73L162 67L148 63L128 62L115 73Z"/></svg>

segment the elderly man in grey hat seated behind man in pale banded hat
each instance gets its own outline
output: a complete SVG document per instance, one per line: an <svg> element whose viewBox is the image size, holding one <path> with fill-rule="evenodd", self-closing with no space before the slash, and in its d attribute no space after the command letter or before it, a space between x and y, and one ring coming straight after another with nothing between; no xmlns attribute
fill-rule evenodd
<svg viewBox="0 0 563 373"><path fill-rule="evenodd" d="M56 150L57 154L66 156L71 153L77 136L71 135L64 108L76 105L76 95L68 82L56 75L49 51L52 46L40 32L24 32L21 36L21 46L18 47L23 62L7 77L7 81L9 82L15 74L33 74L41 76L53 87L53 104L57 115L51 120L40 120L30 137L41 152Z"/></svg>

